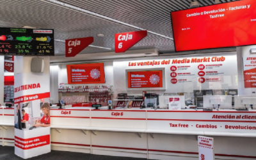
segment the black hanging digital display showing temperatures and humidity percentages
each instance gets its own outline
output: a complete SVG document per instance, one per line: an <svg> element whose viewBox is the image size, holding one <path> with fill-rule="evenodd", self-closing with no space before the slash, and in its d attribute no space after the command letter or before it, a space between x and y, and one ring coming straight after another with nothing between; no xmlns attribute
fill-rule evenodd
<svg viewBox="0 0 256 160"><path fill-rule="evenodd" d="M53 29L0 28L0 55L54 56Z"/></svg>

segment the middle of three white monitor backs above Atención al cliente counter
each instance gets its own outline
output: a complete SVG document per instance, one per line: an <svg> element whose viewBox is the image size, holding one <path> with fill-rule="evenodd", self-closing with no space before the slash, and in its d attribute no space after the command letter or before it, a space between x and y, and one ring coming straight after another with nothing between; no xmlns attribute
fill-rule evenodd
<svg viewBox="0 0 256 160"><path fill-rule="evenodd" d="M232 109L231 95L204 95L204 109Z"/></svg>

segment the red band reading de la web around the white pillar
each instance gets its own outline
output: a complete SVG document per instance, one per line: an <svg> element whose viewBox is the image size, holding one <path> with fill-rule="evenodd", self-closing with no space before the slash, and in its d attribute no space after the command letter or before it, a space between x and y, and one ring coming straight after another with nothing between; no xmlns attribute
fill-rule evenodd
<svg viewBox="0 0 256 160"><path fill-rule="evenodd" d="M46 99L50 97L50 92L47 93L38 93L35 95L24 95L22 97L17 97L14 99L14 104L21 103L21 102L28 102L31 100L36 100L36 99Z"/></svg>

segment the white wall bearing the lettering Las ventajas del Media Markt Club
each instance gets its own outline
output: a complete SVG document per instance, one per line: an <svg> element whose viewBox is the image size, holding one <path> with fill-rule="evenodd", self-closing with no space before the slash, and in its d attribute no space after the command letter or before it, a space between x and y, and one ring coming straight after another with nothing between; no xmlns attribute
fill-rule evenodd
<svg viewBox="0 0 256 160"><path fill-rule="evenodd" d="M176 83L172 84L170 80L172 77L170 77L171 70L170 67L173 66L172 60L173 59L179 59L183 60L184 58L208 58L208 57L221 57L225 56L225 61L223 62L206 62L206 63L180 63L175 64L176 67L182 67L182 66L190 66L188 70L177 70L176 72L191 72L191 74L194 74L194 76L184 76L183 79L187 79L187 83ZM163 60L170 60L169 65L154 65L154 66L135 66L135 67L129 67L129 62L145 62L145 61L163 61ZM165 77L166 77L166 90L154 90L154 88L145 88L145 90L148 90L148 92L155 92L155 93L177 93L177 92L190 92L193 93L193 90L220 90L220 89L237 89L237 70L232 68L237 68L236 65L236 53L222 53L222 54L203 54L203 55L191 55L191 56L168 56L168 57L159 57L159 58L143 58L143 59L137 59L137 60L115 60L113 62L114 67L114 92L115 95L117 93L128 93L130 95L141 95L142 90L138 90L136 88L127 90L127 79L125 76L125 70L128 69L150 69L150 68L165 68ZM206 78L215 78L218 77L221 79L221 82L205 82L205 83L198 83L198 71L197 68L198 65L204 64L205 66L207 64L221 64L221 67L216 67L214 69L210 69L209 71L218 71L218 76L204 76ZM224 74L221 74L223 72ZM182 77L178 77L177 79L182 79Z"/></svg>

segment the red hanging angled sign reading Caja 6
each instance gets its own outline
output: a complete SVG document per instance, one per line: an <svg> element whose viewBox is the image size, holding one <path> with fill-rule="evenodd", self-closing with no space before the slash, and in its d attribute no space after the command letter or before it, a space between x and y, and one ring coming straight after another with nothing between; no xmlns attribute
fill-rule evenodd
<svg viewBox="0 0 256 160"><path fill-rule="evenodd" d="M132 31L115 34L115 52L125 52L147 36L147 31Z"/></svg>

